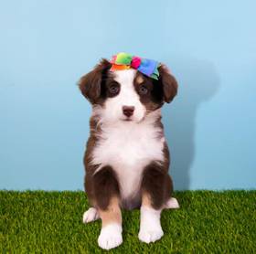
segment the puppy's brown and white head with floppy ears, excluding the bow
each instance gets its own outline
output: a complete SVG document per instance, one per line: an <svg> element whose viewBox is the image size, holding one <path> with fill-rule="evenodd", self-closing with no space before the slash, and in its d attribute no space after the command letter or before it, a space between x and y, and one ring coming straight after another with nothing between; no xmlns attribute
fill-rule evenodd
<svg viewBox="0 0 256 254"><path fill-rule="evenodd" d="M111 68L112 64L102 59L79 82L81 93L108 122L141 122L176 96L176 79L164 65L158 68L159 79L146 77L136 69Z"/></svg>

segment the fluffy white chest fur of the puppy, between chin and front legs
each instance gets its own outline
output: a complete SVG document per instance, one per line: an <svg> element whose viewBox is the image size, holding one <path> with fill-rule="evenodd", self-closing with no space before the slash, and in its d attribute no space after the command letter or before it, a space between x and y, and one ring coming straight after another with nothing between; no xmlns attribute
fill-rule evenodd
<svg viewBox="0 0 256 254"><path fill-rule="evenodd" d="M144 122L117 122L101 126L102 133L92 152L92 164L111 165L118 176L122 198L136 194L144 167L163 161L165 138L152 119Z"/></svg>

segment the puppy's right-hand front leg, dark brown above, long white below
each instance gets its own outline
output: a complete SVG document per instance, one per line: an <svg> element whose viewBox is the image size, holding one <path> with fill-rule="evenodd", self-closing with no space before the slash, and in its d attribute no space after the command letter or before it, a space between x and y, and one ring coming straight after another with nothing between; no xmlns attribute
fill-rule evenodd
<svg viewBox="0 0 256 254"><path fill-rule="evenodd" d="M171 178L164 168L150 164L144 170L139 239L146 243L163 237L160 217L167 196L172 192Z"/></svg>

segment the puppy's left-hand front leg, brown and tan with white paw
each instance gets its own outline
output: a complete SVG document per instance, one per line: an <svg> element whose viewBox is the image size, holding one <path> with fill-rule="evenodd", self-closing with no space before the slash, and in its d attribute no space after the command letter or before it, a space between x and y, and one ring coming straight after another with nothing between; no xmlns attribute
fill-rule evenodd
<svg viewBox="0 0 256 254"><path fill-rule="evenodd" d="M101 217L98 244L112 249L123 242L119 186L112 167L106 166L93 176L95 203Z"/></svg>

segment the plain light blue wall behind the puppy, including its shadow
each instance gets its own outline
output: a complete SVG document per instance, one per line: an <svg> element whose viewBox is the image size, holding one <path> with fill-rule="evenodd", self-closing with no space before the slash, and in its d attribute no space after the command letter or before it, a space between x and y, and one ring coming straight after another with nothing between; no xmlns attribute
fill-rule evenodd
<svg viewBox="0 0 256 254"><path fill-rule="evenodd" d="M179 81L164 108L176 189L256 187L256 2L143 3L1 2L0 188L82 188L91 108L76 82L118 51Z"/></svg>

